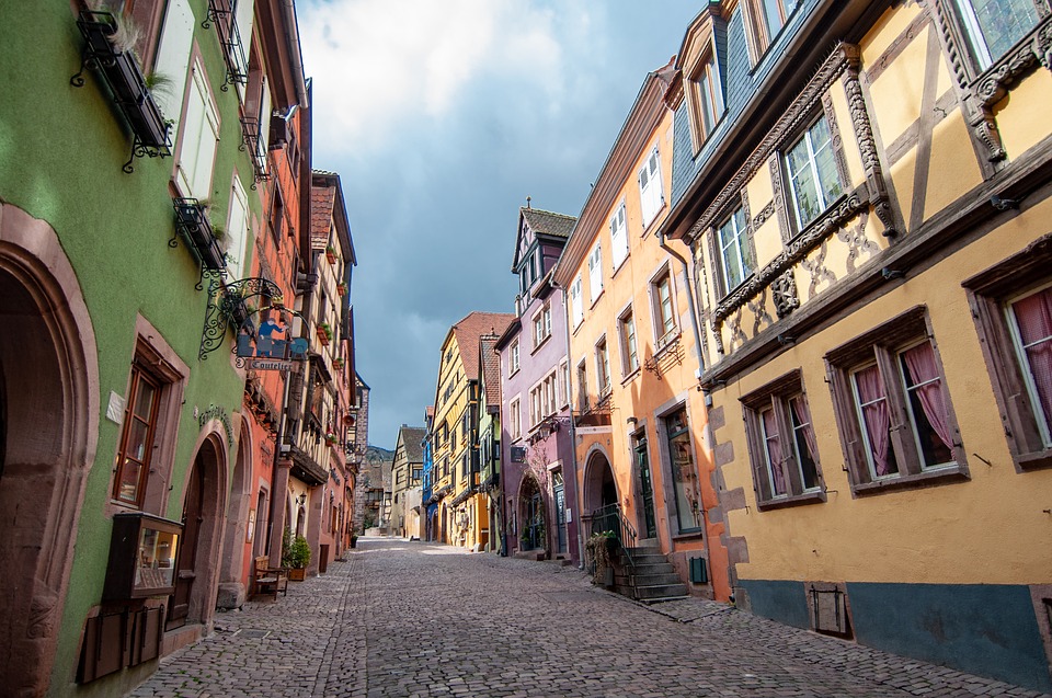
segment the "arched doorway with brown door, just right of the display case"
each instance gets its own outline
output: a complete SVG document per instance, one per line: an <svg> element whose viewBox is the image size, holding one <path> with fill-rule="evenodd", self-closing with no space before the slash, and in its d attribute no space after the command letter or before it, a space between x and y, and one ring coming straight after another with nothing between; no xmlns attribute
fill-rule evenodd
<svg viewBox="0 0 1052 698"><path fill-rule="evenodd" d="M197 450L183 490L183 539L175 562L175 593L169 597L165 630L187 623L207 625L211 620L225 473L222 447L217 435L210 434Z"/></svg>

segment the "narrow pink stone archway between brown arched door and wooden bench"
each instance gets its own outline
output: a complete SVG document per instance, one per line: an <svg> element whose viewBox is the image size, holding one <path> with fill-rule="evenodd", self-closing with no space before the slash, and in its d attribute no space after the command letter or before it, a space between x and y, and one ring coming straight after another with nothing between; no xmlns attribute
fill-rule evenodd
<svg viewBox="0 0 1052 698"><path fill-rule="evenodd" d="M233 482L230 484L230 502L227 505L222 531L222 567L219 573L219 608L239 608L244 603L244 551L248 536L249 510L252 507L252 438L248 423L241 422L238 439L238 457L233 466ZM259 523L256 512L256 523ZM253 536L259 536L253 531Z"/></svg>

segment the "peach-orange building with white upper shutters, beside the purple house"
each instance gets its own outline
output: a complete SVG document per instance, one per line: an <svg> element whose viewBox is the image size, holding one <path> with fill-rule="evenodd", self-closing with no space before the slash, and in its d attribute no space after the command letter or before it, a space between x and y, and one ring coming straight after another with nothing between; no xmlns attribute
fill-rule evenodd
<svg viewBox="0 0 1052 698"><path fill-rule="evenodd" d="M727 599L723 516L712 480L686 248L658 231L668 210L670 64L647 76L556 267L568 293L574 447L584 536L622 529L682 584ZM620 591L642 595L626 573ZM685 585L689 584L689 587Z"/></svg>

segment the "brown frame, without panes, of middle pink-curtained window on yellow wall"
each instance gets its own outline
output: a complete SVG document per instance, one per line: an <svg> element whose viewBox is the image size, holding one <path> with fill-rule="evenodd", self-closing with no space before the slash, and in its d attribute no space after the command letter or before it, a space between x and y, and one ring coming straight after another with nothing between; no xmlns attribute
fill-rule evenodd
<svg viewBox="0 0 1052 698"><path fill-rule="evenodd" d="M946 408L947 431L951 436L948 448L953 457L953 461L949 465L923 465L917 423L911 411L901 368L902 353L925 341L931 346L940 380L939 389ZM947 388L946 371L924 306L912 308L846 342L828 352L824 358L841 445L851 491L855 494L969 479L965 450ZM894 456L897 467L896 473L883 476L878 476L873 470L870 449L867 446L867 427L857 394L856 376L874 365L879 369L883 397L888 401L888 448ZM910 428L904 428L907 426ZM912 438L903 436L904 433L912 435Z"/></svg>

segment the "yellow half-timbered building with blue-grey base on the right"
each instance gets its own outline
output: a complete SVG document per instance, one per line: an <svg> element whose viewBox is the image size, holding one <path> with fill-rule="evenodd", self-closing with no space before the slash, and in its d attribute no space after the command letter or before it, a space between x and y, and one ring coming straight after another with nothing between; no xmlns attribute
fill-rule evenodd
<svg viewBox="0 0 1052 698"><path fill-rule="evenodd" d="M663 229L737 602L1052 690L1048 5L776 4L688 31Z"/></svg>

